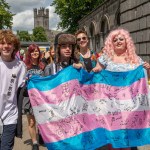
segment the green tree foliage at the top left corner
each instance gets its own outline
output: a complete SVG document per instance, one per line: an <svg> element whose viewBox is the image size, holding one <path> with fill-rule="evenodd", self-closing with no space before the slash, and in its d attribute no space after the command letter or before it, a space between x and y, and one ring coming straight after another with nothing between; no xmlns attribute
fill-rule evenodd
<svg viewBox="0 0 150 150"><path fill-rule="evenodd" d="M0 0L0 29L11 28L14 14L10 11L10 6L5 0Z"/></svg>

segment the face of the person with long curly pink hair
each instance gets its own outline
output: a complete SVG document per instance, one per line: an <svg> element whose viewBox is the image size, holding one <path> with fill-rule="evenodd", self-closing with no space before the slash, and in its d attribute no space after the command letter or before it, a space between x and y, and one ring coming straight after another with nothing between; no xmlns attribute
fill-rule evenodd
<svg viewBox="0 0 150 150"><path fill-rule="evenodd" d="M126 52L126 40L121 34L116 35L113 38L113 46L116 54L122 54Z"/></svg>

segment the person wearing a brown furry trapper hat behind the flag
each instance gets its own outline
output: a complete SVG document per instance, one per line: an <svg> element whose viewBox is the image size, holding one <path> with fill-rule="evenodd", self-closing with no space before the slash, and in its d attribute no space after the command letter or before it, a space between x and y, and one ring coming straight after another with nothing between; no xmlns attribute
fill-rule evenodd
<svg viewBox="0 0 150 150"><path fill-rule="evenodd" d="M63 68L72 65L76 62L74 57L76 39L72 34L61 33L55 37L55 60L50 64L49 71L51 74L56 74ZM47 69L47 68L46 68ZM51 75L46 74L46 75Z"/></svg>

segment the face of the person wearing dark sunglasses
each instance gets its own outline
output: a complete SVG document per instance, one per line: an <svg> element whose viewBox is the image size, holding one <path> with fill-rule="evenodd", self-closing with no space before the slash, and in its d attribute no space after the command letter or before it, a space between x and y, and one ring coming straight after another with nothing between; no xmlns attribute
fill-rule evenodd
<svg viewBox="0 0 150 150"><path fill-rule="evenodd" d="M88 37L85 33L79 33L76 39L80 48L85 48L88 46Z"/></svg>

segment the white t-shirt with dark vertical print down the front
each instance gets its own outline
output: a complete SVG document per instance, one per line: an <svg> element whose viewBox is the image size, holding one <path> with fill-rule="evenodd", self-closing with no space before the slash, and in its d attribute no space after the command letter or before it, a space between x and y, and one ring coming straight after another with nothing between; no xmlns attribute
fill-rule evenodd
<svg viewBox="0 0 150 150"><path fill-rule="evenodd" d="M25 76L22 61L5 62L0 57L0 117L4 125L17 123L17 90L24 84Z"/></svg>

